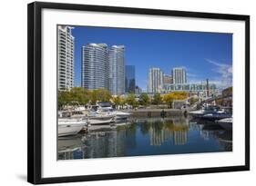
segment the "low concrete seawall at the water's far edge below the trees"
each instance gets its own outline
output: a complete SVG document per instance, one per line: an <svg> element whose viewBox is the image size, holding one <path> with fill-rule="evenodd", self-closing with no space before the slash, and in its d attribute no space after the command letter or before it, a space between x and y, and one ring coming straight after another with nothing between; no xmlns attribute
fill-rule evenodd
<svg viewBox="0 0 256 186"><path fill-rule="evenodd" d="M131 113L132 116L143 116L143 117L159 117L159 116L179 116L186 115L188 112L186 110L179 109L138 109L138 110L128 110L125 111Z"/></svg>

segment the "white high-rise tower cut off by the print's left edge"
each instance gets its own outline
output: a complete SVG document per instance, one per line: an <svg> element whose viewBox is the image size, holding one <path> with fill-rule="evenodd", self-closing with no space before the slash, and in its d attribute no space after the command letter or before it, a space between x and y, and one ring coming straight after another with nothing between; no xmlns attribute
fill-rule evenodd
<svg viewBox="0 0 256 186"><path fill-rule="evenodd" d="M57 82L59 91L74 87L74 41L73 27L57 26Z"/></svg>

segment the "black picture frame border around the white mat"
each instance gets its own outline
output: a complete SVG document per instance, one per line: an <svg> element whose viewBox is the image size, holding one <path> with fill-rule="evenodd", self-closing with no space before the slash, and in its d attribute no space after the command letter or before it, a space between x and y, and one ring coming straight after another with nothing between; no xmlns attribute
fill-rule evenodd
<svg viewBox="0 0 256 186"><path fill-rule="evenodd" d="M240 166L210 167L174 171L144 171L97 175L42 178L42 73L41 32L42 10L62 9L138 15L165 15L209 19L239 20L245 23L245 164ZM250 170L250 15L227 15L199 12L141 9L101 5L75 5L35 2L27 6L27 181L34 184L69 181L100 181L180 174Z"/></svg>

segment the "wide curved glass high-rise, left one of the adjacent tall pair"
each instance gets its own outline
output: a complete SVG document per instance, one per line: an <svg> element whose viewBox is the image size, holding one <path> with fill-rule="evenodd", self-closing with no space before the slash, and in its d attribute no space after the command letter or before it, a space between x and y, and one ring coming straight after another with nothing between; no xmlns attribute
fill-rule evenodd
<svg viewBox="0 0 256 186"><path fill-rule="evenodd" d="M81 86L95 90L109 87L109 62L107 44L82 46Z"/></svg>

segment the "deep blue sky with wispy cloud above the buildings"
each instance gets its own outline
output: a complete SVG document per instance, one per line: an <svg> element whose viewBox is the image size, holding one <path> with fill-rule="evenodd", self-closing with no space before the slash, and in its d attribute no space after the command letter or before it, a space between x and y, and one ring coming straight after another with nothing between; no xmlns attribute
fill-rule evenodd
<svg viewBox="0 0 256 186"><path fill-rule="evenodd" d="M146 90L148 69L170 73L184 67L189 83L206 78L231 85L232 34L75 26L75 85L81 81L81 47L88 43L125 45L125 63L136 68L136 84ZM226 80L229 79L229 80Z"/></svg>

